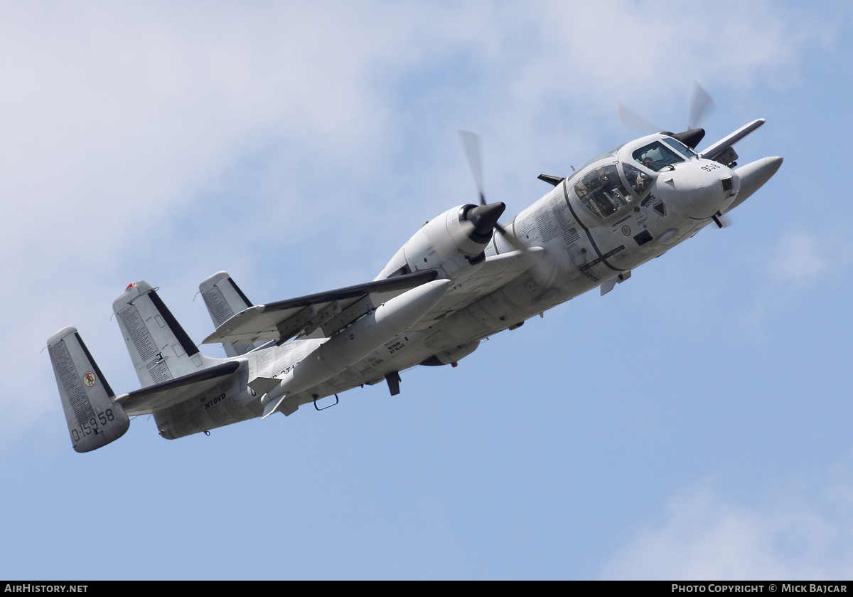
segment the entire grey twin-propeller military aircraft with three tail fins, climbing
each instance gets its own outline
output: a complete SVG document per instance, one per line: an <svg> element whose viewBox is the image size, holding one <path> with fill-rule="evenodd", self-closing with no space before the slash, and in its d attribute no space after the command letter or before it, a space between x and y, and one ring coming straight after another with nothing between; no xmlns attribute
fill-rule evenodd
<svg viewBox="0 0 853 597"><path fill-rule="evenodd" d="M498 224L486 203L479 140L463 133L479 205L432 219L367 284L252 305L226 272L200 285L225 359L201 354L147 282L114 302L142 389L115 395L73 327L48 340L73 448L89 452L122 436L130 418L154 414L167 439L292 414L301 405L400 372L452 365L496 332L592 290L604 295L756 192L782 158L737 166L733 145L754 120L711 147L705 132L659 132L599 155ZM690 128L690 127L688 127ZM319 407L317 407L319 408Z"/></svg>

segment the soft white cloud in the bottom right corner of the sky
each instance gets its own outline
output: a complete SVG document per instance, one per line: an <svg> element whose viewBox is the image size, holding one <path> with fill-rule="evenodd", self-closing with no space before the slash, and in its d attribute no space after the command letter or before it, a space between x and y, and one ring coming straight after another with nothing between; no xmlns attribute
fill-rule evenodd
<svg viewBox="0 0 853 597"><path fill-rule="evenodd" d="M746 506L711 483L683 491L664 520L641 530L602 572L605 578L843 579L853 574L853 485L827 483L808 497L786 489Z"/></svg>

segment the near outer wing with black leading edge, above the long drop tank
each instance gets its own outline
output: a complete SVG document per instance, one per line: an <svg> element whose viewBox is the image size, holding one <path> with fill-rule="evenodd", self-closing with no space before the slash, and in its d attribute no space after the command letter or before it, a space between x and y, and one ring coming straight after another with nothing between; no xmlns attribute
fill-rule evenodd
<svg viewBox="0 0 853 597"><path fill-rule="evenodd" d="M435 270L422 270L316 295L256 305L223 322L202 343L284 342L298 334L308 336L317 330L329 337L383 302L437 277Z"/></svg>

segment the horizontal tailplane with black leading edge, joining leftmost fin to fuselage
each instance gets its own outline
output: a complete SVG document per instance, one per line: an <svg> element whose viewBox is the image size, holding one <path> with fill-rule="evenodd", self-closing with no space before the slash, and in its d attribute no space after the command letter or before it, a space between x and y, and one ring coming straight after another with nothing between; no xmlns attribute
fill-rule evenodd
<svg viewBox="0 0 853 597"><path fill-rule="evenodd" d="M125 408L125 413L131 417L155 413L204 394L219 383L223 383L223 378L232 375L239 368L240 362L232 360L180 378L170 379L167 382L156 383L147 388L135 389L128 394L118 396L114 401L119 402Z"/></svg>

